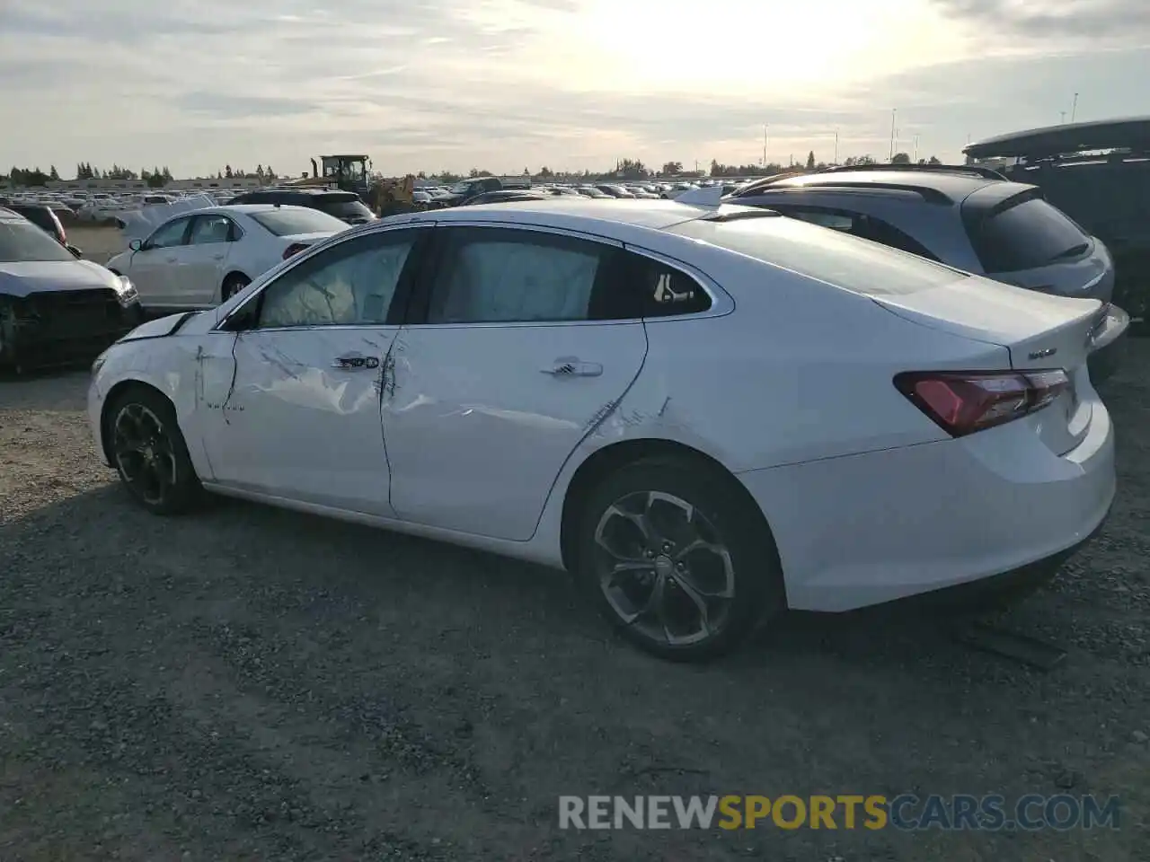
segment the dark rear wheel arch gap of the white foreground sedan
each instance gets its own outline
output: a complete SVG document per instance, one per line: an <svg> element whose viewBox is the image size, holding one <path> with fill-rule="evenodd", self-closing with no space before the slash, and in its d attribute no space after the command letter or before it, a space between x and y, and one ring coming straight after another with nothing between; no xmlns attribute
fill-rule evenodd
<svg viewBox="0 0 1150 862"><path fill-rule="evenodd" d="M675 440L638 438L620 440L619 442L596 449L576 468L570 482L567 483L559 521L559 551L564 568L568 571L575 571L575 567L577 565L576 537L578 533L578 514L583 501L595 486L613 470L636 463L637 461L659 457L693 461L704 465L714 476L720 478L729 487L730 493L746 507L747 513L761 523L772 545L775 545L774 533L770 531L770 525L767 523L761 507L751 495L751 492L746 490L746 486L719 460L693 446L676 442Z"/></svg>

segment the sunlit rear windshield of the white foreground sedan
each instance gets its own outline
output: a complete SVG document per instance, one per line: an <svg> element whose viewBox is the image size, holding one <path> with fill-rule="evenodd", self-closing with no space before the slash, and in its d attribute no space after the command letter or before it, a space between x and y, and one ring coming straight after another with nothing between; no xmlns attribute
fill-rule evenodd
<svg viewBox="0 0 1150 862"><path fill-rule="evenodd" d="M908 252L795 218L696 218L668 230L871 297L915 293L968 277Z"/></svg>

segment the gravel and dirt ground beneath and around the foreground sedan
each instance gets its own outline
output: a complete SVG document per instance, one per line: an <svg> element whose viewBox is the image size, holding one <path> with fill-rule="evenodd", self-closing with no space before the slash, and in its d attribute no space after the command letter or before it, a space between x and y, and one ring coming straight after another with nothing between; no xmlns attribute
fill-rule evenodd
<svg viewBox="0 0 1150 862"><path fill-rule="evenodd" d="M133 508L83 375L0 383L0 860L1148 860L1150 343L1103 536L1007 617L796 618L710 668L561 577L256 506ZM1121 829L574 832L559 794L1117 794Z"/></svg>

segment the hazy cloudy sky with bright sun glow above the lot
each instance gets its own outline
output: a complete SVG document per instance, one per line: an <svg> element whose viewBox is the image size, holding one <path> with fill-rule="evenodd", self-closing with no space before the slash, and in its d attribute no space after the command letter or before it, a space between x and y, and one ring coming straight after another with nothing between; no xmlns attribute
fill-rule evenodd
<svg viewBox="0 0 1150 862"><path fill-rule="evenodd" d="M892 111L898 149L951 161L1074 93L1079 121L1150 115L1145 3L0 0L0 164L885 159Z"/></svg>

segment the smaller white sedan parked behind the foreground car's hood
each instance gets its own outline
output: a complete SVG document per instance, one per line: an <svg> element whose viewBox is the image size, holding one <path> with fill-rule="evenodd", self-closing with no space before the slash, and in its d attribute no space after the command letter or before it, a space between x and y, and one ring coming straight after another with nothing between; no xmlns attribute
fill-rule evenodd
<svg viewBox="0 0 1150 862"><path fill-rule="evenodd" d="M106 265L132 279L145 308L210 308L285 257L346 229L307 207L207 207L169 218Z"/></svg>

